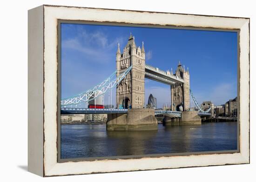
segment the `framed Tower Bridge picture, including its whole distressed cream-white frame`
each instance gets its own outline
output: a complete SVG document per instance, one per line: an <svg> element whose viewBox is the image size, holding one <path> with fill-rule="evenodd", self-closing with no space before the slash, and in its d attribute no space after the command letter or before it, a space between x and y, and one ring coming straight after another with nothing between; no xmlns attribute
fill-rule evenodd
<svg viewBox="0 0 256 182"><path fill-rule="evenodd" d="M28 170L249 163L249 18L28 11Z"/></svg>

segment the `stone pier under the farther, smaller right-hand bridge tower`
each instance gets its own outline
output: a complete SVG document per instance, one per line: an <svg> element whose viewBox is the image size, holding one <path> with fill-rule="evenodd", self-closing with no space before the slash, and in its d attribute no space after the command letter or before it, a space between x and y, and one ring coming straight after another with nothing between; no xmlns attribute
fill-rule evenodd
<svg viewBox="0 0 256 182"><path fill-rule="evenodd" d="M201 125L201 117L198 116L197 111L183 111L181 118L170 118L164 116L163 122L168 125Z"/></svg>

